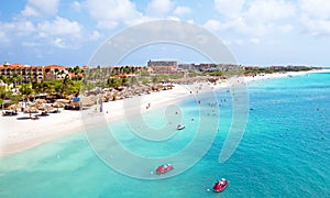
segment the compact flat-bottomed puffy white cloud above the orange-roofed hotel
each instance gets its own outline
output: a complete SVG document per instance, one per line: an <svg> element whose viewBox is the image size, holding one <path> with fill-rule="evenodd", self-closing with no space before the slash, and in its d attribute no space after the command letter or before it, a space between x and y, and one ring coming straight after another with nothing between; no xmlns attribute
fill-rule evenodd
<svg viewBox="0 0 330 198"><path fill-rule="evenodd" d="M69 21L64 18L56 16L52 22L44 21L37 24L40 36L45 37L48 35L70 35L79 37L81 34L81 25L76 21Z"/></svg>

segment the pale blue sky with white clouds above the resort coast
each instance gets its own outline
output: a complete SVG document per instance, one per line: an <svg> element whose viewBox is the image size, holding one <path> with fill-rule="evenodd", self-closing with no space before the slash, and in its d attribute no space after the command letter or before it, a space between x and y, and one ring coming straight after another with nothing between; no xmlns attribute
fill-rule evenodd
<svg viewBox="0 0 330 198"><path fill-rule="evenodd" d="M111 36L154 20L204 28L240 65L330 66L328 0L2 0L0 63L88 65ZM173 47L145 46L122 64L209 62L191 50L178 56Z"/></svg>

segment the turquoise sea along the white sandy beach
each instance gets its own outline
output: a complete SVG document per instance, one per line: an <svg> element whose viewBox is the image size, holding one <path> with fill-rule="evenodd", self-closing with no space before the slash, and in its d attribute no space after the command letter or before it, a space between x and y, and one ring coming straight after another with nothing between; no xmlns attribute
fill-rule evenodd
<svg viewBox="0 0 330 198"><path fill-rule="evenodd" d="M226 89L216 91L220 116L201 111L193 98L177 103L186 129L169 141L143 141L125 120L107 127L127 150L162 158L185 150L200 127L213 129L205 119L216 116L219 127L210 148L186 172L152 180L129 177L109 167L78 132L2 157L0 197L330 197L330 73L254 81L248 91L246 130L224 163L218 158L232 119ZM172 124L162 119L165 111L152 109L144 120L155 130ZM156 168L134 166L148 174ZM221 177L230 182L227 189L208 190Z"/></svg>

